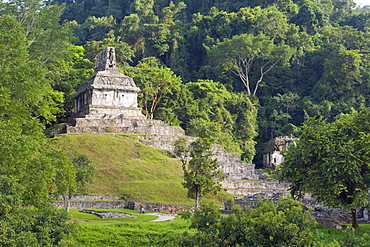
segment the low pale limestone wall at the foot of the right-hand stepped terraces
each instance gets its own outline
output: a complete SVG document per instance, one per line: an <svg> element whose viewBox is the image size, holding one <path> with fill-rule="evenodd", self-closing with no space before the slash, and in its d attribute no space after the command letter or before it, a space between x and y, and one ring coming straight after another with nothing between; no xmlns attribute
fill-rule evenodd
<svg viewBox="0 0 370 247"><path fill-rule="evenodd" d="M222 188L226 192L233 195L253 195L261 192L272 195L274 193L289 193L288 183L277 182L261 182L261 181L248 181L248 180L224 180L222 181Z"/></svg>

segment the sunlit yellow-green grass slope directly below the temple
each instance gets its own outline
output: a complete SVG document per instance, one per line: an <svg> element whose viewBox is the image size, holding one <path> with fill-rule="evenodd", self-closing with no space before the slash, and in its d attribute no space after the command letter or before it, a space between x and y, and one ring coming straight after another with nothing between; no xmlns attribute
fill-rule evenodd
<svg viewBox="0 0 370 247"><path fill-rule="evenodd" d="M89 193L113 194L126 200L193 204L182 187L182 168L167 150L148 147L122 135L71 135L55 138L71 157L86 155L95 166ZM221 192L222 203L232 196Z"/></svg>

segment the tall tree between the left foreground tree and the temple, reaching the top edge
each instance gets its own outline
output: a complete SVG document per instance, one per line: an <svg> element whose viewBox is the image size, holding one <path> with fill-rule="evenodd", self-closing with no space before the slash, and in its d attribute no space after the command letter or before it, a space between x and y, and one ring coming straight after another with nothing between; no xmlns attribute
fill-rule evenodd
<svg viewBox="0 0 370 247"><path fill-rule="evenodd" d="M25 59L42 62L46 70L44 78L56 89L46 91L48 94L44 95L48 104L58 105L52 108L48 118L43 117L45 122L55 121L56 113L58 120L68 119L74 89L91 73L88 61L84 61L82 47L72 45L76 40L73 36L76 23L62 22L63 11L64 6L45 5L37 0L11 0L0 4L0 13L12 16L22 27L28 53ZM63 93L66 104L63 104Z"/></svg>

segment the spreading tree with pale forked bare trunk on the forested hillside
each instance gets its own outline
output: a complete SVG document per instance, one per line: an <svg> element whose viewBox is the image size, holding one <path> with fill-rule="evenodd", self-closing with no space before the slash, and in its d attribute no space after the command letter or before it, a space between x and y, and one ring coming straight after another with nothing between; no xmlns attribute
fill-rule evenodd
<svg viewBox="0 0 370 247"><path fill-rule="evenodd" d="M231 71L243 82L248 95L256 95L264 76L279 63L289 61L294 49L275 44L264 34L241 34L208 49L210 61Z"/></svg>

